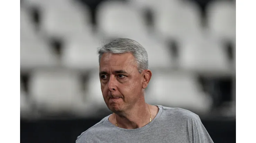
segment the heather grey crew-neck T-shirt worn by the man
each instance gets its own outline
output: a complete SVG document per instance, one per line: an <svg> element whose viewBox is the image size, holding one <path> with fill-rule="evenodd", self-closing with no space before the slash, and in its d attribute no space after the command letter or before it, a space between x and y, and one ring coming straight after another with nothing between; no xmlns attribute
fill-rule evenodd
<svg viewBox="0 0 256 143"><path fill-rule="evenodd" d="M109 115L78 136L76 143L213 143L195 113L157 106L156 117L141 128L119 128L109 122Z"/></svg>

